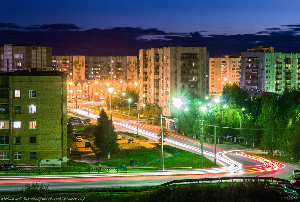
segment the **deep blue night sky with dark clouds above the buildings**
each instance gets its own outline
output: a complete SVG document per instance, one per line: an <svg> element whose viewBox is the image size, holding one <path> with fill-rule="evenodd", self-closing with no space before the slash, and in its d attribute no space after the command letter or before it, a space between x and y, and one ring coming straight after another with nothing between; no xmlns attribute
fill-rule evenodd
<svg viewBox="0 0 300 202"><path fill-rule="evenodd" d="M210 56L257 45L300 52L297 0L2 1L0 43L52 46L52 55L137 55L206 46Z"/></svg>

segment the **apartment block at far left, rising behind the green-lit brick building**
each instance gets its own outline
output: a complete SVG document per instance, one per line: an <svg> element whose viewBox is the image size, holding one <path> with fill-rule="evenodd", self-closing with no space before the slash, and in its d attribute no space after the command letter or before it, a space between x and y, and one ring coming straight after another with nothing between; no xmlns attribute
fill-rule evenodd
<svg viewBox="0 0 300 202"><path fill-rule="evenodd" d="M52 70L52 47L4 44L0 55L1 73L29 68Z"/></svg>

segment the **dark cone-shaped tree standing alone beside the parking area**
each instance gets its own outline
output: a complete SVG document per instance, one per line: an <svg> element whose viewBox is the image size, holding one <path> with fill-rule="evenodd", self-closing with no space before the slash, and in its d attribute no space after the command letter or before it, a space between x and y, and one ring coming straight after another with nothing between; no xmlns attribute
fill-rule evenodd
<svg viewBox="0 0 300 202"><path fill-rule="evenodd" d="M113 122L107 116L104 109L99 114L93 135L95 136L94 144L102 154L107 155L107 160L110 160L110 154L117 153L119 145Z"/></svg>

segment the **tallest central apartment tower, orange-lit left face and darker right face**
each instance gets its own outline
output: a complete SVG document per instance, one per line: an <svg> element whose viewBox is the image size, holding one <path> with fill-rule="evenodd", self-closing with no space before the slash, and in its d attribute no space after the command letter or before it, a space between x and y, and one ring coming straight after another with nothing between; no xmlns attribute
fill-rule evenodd
<svg viewBox="0 0 300 202"><path fill-rule="evenodd" d="M208 96L208 62L206 47L140 49L139 100L162 107L187 93ZM163 114L170 116L170 108L165 107Z"/></svg>

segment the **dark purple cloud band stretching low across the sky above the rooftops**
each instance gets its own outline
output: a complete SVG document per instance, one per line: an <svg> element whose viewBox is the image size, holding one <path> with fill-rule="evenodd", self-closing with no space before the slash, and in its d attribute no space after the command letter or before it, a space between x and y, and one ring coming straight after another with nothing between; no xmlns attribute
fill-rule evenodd
<svg viewBox="0 0 300 202"><path fill-rule="evenodd" d="M80 30L73 24L30 25L19 30L12 23L0 23L1 45L51 46L52 55L137 55L139 49L163 45L206 46L210 56L247 51L257 45L280 51L300 52L300 27L267 28L255 34L207 34L206 31L168 33L159 28L114 27ZM8 29L11 28L11 29ZM205 32L202 35L202 32Z"/></svg>

